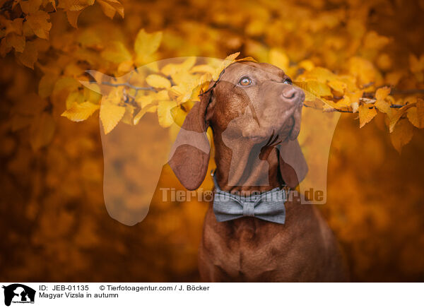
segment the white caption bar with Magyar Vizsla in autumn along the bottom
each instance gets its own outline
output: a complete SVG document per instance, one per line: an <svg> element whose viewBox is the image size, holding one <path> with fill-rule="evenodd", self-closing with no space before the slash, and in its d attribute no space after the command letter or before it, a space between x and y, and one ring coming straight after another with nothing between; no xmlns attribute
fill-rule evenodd
<svg viewBox="0 0 424 308"><path fill-rule="evenodd" d="M0 307L424 307L423 283L1 283ZM25 304L30 304L25 305ZM4 306L6 305L6 306ZM149 305L149 306L146 306ZM151 306L153 305L153 306Z"/></svg>

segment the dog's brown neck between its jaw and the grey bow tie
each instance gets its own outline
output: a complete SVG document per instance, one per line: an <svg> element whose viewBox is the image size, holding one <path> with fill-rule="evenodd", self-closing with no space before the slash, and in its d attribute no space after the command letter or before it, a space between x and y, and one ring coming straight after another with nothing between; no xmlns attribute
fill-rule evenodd
<svg viewBox="0 0 424 308"><path fill-rule="evenodd" d="M220 189L249 196L254 191L269 191L281 186L278 150L263 148L253 141L224 142L214 136L216 180Z"/></svg>

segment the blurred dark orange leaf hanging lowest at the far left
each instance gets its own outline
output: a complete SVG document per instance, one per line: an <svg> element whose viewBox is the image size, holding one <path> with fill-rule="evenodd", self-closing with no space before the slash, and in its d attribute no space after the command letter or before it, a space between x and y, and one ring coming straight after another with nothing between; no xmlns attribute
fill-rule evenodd
<svg viewBox="0 0 424 308"><path fill-rule="evenodd" d="M52 114L47 112L37 114L30 126L30 143L33 150L47 146L52 141L55 128Z"/></svg>

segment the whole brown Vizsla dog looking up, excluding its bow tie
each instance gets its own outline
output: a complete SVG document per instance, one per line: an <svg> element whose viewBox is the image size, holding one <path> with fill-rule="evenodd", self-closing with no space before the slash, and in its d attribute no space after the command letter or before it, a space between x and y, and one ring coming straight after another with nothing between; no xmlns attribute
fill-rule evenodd
<svg viewBox="0 0 424 308"><path fill-rule="evenodd" d="M305 95L281 69L237 62L187 115L169 161L197 189L206 176L211 126L216 181L231 194L295 188L307 166L296 140ZM242 217L218 223L209 206L199 247L205 281L346 281L328 225L314 206L285 201L285 223Z"/></svg>

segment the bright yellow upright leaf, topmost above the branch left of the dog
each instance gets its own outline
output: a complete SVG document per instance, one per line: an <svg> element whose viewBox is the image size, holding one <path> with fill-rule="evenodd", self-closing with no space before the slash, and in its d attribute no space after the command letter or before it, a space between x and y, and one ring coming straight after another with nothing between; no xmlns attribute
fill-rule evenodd
<svg viewBox="0 0 424 308"><path fill-rule="evenodd" d="M139 31L134 42L137 65L144 64L148 61L151 54L158 50L161 40L162 32L146 33L144 29Z"/></svg>

